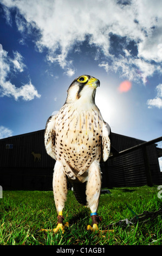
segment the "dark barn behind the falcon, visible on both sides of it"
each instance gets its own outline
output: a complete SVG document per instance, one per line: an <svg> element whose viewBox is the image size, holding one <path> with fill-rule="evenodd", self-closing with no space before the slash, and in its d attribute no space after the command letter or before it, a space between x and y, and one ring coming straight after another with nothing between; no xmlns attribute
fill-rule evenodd
<svg viewBox="0 0 162 256"><path fill-rule="evenodd" d="M158 161L158 157L162 157L161 141L144 147L144 141L112 133L116 151L112 150L112 156L101 164L102 187L162 184ZM55 161L44 148L44 130L0 139L0 149L3 190L52 190Z"/></svg>

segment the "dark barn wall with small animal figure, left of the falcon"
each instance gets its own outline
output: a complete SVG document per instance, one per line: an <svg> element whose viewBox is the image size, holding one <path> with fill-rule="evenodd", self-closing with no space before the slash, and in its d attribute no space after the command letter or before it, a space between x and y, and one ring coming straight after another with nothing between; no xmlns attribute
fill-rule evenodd
<svg viewBox="0 0 162 256"><path fill-rule="evenodd" d="M44 148L44 130L1 139L0 150L3 189L52 189L55 161Z"/></svg>

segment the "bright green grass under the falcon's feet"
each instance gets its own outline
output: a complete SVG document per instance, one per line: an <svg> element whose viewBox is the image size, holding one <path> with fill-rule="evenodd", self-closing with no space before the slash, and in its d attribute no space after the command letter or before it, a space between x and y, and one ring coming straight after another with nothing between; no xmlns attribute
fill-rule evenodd
<svg viewBox="0 0 162 256"><path fill-rule="evenodd" d="M101 194L98 213L100 229L108 224L134 217L144 211L162 208L157 187L113 188L111 194ZM126 228L116 226L105 237L86 230L91 223L89 209L77 203L72 191L63 215L70 226L62 235L39 232L55 228L57 214L53 192L3 191L0 199L0 245L162 245L162 218L137 223Z"/></svg>

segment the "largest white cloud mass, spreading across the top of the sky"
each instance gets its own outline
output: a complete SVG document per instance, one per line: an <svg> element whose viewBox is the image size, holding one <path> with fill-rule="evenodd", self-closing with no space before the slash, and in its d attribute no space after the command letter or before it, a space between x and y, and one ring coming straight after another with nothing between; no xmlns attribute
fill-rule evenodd
<svg viewBox="0 0 162 256"><path fill-rule="evenodd" d="M30 34L31 28L39 31L35 39L38 51L46 49L48 61L58 63L68 76L75 72L68 54L71 50L76 52L76 47L87 38L89 45L96 46L94 59L99 61L96 57L99 52L105 57L99 66L107 72L120 71L121 76L143 83L155 71L161 72L159 0L2 0L2 3L5 9L17 8L15 19L20 32ZM118 56L111 53L111 35L126 38ZM129 42L134 42L136 54L126 49Z"/></svg>

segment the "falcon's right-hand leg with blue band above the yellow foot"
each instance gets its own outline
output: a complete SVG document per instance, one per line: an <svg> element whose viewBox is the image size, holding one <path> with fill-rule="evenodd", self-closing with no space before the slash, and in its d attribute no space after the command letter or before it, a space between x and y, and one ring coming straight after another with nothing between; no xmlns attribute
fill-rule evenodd
<svg viewBox="0 0 162 256"><path fill-rule="evenodd" d="M88 181L87 181L87 188L86 188L87 206L90 208L90 211L92 212L91 218L93 222L93 227L88 225L87 229L98 230L97 209L99 205L100 192L101 192L100 164L99 162L94 161L89 167Z"/></svg>

